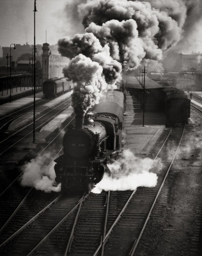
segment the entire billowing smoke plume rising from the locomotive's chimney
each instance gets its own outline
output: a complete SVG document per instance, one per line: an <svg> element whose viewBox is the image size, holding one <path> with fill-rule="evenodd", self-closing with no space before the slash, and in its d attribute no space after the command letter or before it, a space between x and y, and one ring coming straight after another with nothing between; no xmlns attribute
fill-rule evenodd
<svg viewBox="0 0 202 256"><path fill-rule="evenodd" d="M86 0L77 10L85 33L58 42L58 51L71 59L64 74L77 83L72 95L76 115L114 88L122 68L159 61L180 40L186 17L181 0Z"/></svg>

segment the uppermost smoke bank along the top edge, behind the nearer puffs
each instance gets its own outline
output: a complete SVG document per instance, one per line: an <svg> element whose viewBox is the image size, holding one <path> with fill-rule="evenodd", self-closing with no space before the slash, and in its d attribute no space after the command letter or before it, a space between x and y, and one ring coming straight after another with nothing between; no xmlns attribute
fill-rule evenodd
<svg viewBox="0 0 202 256"><path fill-rule="evenodd" d="M133 19L137 23L140 38L150 37L160 49L167 49L180 40L185 22L186 8L182 1L149 2L127 0L92 0L79 7L84 13L83 24L87 28L91 22L98 26L109 20Z"/></svg>

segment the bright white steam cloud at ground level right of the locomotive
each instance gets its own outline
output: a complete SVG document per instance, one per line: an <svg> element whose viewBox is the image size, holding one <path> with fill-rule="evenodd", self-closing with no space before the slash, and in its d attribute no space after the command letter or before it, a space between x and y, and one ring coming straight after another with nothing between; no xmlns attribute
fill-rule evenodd
<svg viewBox="0 0 202 256"><path fill-rule="evenodd" d="M130 150L123 150L123 156L112 164L108 164L110 173L105 173L104 178L93 188L93 193L116 190L134 190L139 186L155 187L157 174L162 168L160 159L141 159L134 156Z"/></svg>

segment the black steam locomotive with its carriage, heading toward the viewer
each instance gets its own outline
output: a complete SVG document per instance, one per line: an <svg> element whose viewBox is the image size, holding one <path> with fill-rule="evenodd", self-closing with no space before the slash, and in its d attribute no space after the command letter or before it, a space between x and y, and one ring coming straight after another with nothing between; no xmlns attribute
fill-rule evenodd
<svg viewBox="0 0 202 256"><path fill-rule="evenodd" d="M109 91L63 137L63 155L55 159L61 191L88 191L102 180L107 161L121 150L123 93Z"/></svg>

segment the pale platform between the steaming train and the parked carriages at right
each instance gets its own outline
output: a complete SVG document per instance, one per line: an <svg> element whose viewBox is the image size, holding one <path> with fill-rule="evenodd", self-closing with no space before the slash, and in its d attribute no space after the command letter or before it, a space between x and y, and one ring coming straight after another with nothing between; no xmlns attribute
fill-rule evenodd
<svg viewBox="0 0 202 256"><path fill-rule="evenodd" d="M166 118L164 113L146 112L143 126L143 113L140 113L139 109L139 102L127 93L123 147L130 149L134 154L146 156L166 128Z"/></svg>

